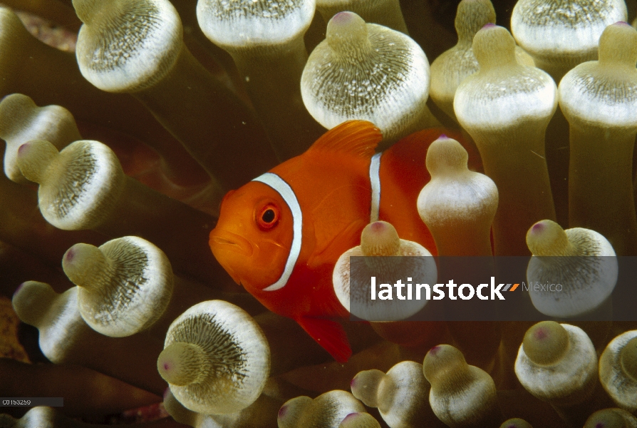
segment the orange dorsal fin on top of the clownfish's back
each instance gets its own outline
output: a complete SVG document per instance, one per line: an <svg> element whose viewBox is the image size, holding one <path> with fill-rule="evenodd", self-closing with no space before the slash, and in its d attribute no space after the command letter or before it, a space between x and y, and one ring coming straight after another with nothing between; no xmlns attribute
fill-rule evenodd
<svg viewBox="0 0 637 428"><path fill-rule="evenodd" d="M347 121L324 133L306 153L321 151L370 158L382 140L383 134L373 123Z"/></svg>

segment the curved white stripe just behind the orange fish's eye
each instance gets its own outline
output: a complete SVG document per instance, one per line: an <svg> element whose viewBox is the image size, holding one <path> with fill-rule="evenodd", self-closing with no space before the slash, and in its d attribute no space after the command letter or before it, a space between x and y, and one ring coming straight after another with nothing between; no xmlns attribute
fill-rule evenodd
<svg viewBox="0 0 637 428"><path fill-rule="evenodd" d="M292 271L294 270L294 265L296 265L296 260L299 259L299 254L301 253L301 236L303 230L303 214L301 213L301 205L299 205L299 200L296 199L294 190L292 190L290 185L286 183L283 178L279 177L279 175L265 173L264 175L259 175L259 177L254 178L252 181L259 181L276 190L279 195L281 195L281 198L283 198L285 203L288 204L288 207L292 212L292 245L290 247L288 260L286 260L285 268L279 280L264 288L264 291L279 290L279 288L285 287L290 279L290 275L292 275Z"/></svg>

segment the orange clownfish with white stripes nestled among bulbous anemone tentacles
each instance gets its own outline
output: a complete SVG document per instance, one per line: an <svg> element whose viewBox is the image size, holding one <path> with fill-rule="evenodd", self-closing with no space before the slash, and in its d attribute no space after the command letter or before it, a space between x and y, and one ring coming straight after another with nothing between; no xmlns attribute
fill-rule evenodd
<svg viewBox="0 0 637 428"><path fill-rule="evenodd" d="M214 257L265 307L347 361L351 348L334 318L348 312L333 290L334 265L376 220L436 254L416 200L430 180L427 149L445 132L420 131L376 153L383 136L372 123L332 128L305 153L224 196L209 238Z"/></svg>

